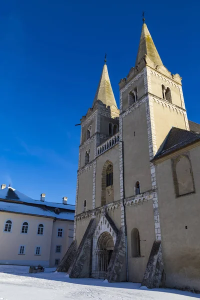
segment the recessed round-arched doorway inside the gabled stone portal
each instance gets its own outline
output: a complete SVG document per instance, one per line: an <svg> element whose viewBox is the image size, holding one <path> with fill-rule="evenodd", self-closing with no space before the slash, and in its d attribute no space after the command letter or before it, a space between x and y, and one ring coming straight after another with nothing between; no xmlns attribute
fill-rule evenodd
<svg viewBox="0 0 200 300"><path fill-rule="evenodd" d="M95 250L94 272L97 278L105 277L113 248L114 241L109 232L101 233L97 241L97 248Z"/></svg>

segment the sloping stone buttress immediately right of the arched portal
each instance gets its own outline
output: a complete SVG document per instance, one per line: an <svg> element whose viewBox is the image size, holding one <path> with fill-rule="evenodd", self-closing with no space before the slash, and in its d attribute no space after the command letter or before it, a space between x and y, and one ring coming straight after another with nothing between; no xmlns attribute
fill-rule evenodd
<svg viewBox="0 0 200 300"><path fill-rule="evenodd" d="M108 282L125 281L125 226L121 226L107 267Z"/></svg>

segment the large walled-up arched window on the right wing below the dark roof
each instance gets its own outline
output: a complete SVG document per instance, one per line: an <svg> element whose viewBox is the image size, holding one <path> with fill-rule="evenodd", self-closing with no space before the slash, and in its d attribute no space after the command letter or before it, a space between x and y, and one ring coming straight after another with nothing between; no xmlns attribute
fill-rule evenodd
<svg viewBox="0 0 200 300"><path fill-rule="evenodd" d="M173 160L173 182L176 197L194 192L194 180L188 155L180 155Z"/></svg>

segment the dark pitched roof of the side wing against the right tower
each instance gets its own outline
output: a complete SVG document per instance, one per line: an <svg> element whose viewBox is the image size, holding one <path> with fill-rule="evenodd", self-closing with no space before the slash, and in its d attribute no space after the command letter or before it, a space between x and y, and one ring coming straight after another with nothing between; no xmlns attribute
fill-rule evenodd
<svg viewBox="0 0 200 300"><path fill-rule="evenodd" d="M166 136L166 140L161 150L155 154L152 161L196 140L200 140L200 133L172 127Z"/></svg>

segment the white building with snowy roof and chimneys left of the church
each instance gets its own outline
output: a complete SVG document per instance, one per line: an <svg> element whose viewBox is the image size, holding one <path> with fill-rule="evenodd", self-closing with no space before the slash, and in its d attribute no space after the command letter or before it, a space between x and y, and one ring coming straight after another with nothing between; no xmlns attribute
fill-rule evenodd
<svg viewBox="0 0 200 300"><path fill-rule="evenodd" d="M0 263L56 266L73 240L74 205L0 189Z"/></svg>

